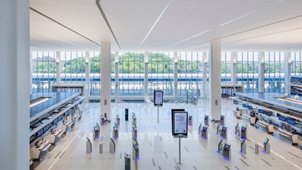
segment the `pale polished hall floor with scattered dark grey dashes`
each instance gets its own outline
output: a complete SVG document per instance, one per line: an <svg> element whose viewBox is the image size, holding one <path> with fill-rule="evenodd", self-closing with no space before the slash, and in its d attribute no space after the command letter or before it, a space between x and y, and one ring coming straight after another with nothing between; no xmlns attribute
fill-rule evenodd
<svg viewBox="0 0 302 170"><path fill-rule="evenodd" d="M124 121L124 109L129 108L129 122ZM184 108L193 115L193 126L189 126L188 138L181 139L181 160L178 165L178 139L171 135L171 109ZM217 143L220 137L216 134L216 126L210 124L208 138L198 136L198 126L204 116L209 114L209 101L202 99L198 105L164 104L159 108L159 122L157 122L157 107L151 103L114 103L112 104L111 124L101 127L101 137L93 142L93 151L86 153L87 137L92 140L92 127L99 122L99 103L87 103L83 106L82 120L58 145L45 156L36 169L125 169L124 152L132 154L132 122L131 112L137 117L140 156L138 161L131 159L131 169L136 170L230 170L230 169L274 169L274 170L302 170L302 151L290 144L273 137L261 129L247 128L247 154L240 154L240 139L234 134L234 127L241 119L232 114L231 100L223 100L222 115L228 127L227 139L231 144L232 158L225 160L217 154ZM112 127L115 115L121 117L119 138L115 140L117 148L115 154L109 153L109 138L112 137ZM254 154L254 145L269 137L271 154L264 154L259 148L259 154ZM99 143L104 144L103 153L99 153ZM132 156L132 155L131 155Z"/></svg>

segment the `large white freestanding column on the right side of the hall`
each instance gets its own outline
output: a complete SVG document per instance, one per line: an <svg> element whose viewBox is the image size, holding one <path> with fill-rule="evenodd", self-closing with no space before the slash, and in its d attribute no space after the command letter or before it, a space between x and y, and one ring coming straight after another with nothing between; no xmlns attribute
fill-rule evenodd
<svg viewBox="0 0 302 170"><path fill-rule="evenodd" d="M221 43L210 43L210 114L211 119L220 120L221 115Z"/></svg>

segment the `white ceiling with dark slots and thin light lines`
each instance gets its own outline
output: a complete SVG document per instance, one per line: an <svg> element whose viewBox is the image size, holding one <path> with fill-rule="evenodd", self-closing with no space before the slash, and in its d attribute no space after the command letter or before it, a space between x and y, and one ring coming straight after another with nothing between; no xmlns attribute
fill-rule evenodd
<svg viewBox="0 0 302 170"><path fill-rule="evenodd" d="M301 0L31 0L31 48L97 51L302 51ZM94 42L92 42L94 41Z"/></svg>

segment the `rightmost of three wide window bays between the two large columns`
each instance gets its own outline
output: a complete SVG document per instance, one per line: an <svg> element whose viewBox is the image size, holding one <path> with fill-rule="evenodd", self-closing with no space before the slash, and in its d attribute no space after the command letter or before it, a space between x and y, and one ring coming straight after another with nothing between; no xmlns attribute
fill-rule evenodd
<svg viewBox="0 0 302 170"><path fill-rule="evenodd" d="M203 87L203 53L178 53L178 95L187 95L187 90L199 96Z"/></svg>

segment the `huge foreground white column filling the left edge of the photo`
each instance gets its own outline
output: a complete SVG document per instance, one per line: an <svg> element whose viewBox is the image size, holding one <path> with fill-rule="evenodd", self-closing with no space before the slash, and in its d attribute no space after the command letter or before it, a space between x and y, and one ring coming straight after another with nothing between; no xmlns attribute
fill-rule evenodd
<svg viewBox="0 0 302 170"><path fill-rule="evenodd" d="M29 169L29 1L0 5L0 169Z"/></svg>

